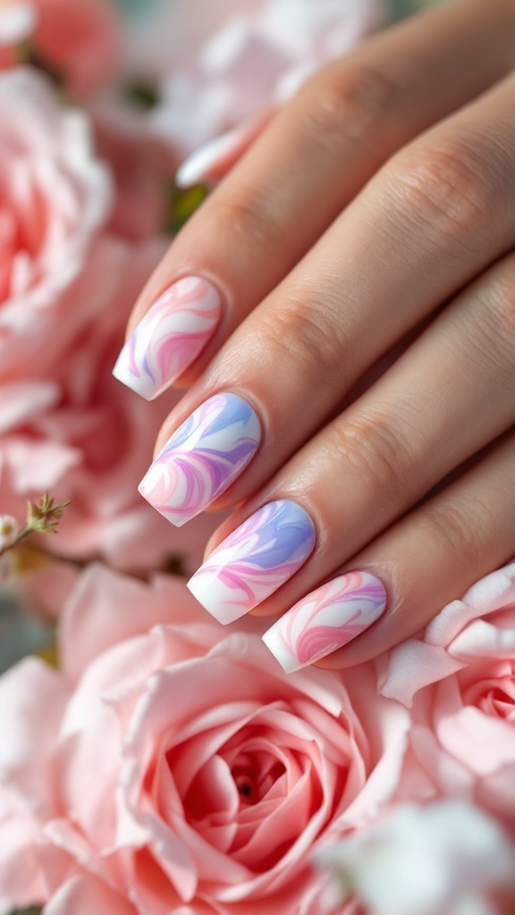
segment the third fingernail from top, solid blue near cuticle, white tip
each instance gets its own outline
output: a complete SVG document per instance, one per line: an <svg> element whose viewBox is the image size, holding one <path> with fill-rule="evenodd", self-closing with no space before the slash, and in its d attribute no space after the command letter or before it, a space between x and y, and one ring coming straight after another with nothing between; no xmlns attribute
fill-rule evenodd
<svg viewBox="0 0 515 915"><path fill-rule="evenodd" d="M296 502L268 502L214 550L188 587L215 619L233 622L288 581L314 544L307 511Z"/></svg>

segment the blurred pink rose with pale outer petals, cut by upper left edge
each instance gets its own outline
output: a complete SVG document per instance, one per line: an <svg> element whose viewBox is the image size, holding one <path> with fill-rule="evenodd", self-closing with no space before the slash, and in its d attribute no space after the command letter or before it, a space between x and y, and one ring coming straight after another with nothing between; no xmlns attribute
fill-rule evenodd
<svg viewBox="0 0 515 915"><path fill-rule="evenodd" d="M0 175L0 380L38 378L87 320L111 185L86 119L33 70L0 73Z"/></svg>

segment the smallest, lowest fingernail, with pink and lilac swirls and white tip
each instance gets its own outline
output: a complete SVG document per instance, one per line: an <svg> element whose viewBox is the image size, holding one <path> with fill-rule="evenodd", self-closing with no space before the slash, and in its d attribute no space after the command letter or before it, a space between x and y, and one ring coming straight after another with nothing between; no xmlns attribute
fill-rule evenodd
<svg viewBox="0 0 515 915"><path fill-rule="evenodd" d="M387 594L370 572L348 572L303 597L265 632L263 641L286 673L343 648L384 613Z"/></svg>

